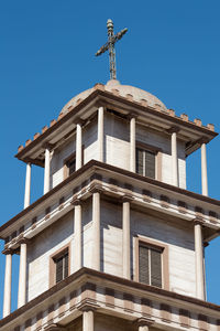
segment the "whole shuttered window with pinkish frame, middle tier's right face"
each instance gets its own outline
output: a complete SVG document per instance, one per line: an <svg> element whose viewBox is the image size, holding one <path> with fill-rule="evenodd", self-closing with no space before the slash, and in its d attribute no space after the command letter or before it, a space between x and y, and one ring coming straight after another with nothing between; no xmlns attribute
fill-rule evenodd
<svg viewBox="0 0 220 331"><path fill-rule="evenodd" d="M169 290L167 245L146 237L135 238L134 280Z"/></svg>

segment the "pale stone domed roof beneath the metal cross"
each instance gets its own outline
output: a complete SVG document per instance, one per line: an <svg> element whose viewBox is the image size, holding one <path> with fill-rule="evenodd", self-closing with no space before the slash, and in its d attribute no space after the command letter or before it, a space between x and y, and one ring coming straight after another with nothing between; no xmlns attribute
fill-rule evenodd
<svg viewBox="0 0 220 331"><path fill-rule="evenodd" d="M96 86L96 85L95 85ZM167 111L166 106L154 95L151 93L143 90L141 88L130 86L130 85L121 85L119 81L111 79L105 86L105 90L118 94L122 97L132 97L134 102L143 102L146 100L148 106L156 107L160 106L163 110ZM86 99L96 88L91 87L79 93L77 96L73 97L62 109L62 114L68 113L69 107L75 107L78 103Z"/></svg>

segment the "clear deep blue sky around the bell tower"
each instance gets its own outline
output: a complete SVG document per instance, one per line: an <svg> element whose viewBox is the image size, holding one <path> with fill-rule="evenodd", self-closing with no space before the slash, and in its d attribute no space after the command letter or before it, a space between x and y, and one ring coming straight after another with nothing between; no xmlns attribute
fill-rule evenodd
<svg viewBox="0 0 220 331"><path fill-rule="evenodd" d="M25 166L19 145L58 116L76 94L109 79L106 22L129 32L117 44L118 78L155 94L177 115L213 122L220 131L220 1L136 0L0 2L1 217L23 209ZM209 195L219 199L220 139L207 148ZM187 159L187 189L200 192L200 152ZM32 201L43 172L33 167ZM1 243L1 249L3 243ZM220 238L206 248L208 300L220 305ZM4 256L0 257L0 316ZM18 257L13 256L12 308Z"/></svg>

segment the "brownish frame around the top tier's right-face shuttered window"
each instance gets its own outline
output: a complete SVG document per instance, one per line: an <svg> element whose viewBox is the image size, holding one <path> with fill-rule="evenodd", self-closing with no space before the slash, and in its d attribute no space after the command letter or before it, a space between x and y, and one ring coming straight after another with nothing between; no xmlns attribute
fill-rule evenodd
<svg viewBox="0 0 220 331"><path fill-rule="evenodd" d="M136 141L135 143L135 172L138 173L138 149L142 149L144 151L148 151L151 153L155 154L155 180L162 181L162 149L157 148L155 146L145 143L145 142L141 142L141 141ZM143 174L140 174L143 175ZM146 175L143 175L146 177Z"/></svg>

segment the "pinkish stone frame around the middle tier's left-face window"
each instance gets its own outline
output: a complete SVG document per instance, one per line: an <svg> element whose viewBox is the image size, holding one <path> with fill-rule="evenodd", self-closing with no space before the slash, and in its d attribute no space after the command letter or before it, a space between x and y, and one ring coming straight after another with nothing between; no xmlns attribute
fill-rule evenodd
<svg viewBox="0 0 220 331"><path fill-rule="evenodd" d="M70 259L70 243L69 243L69 244L63 246L62 248L57 249L55 253L53 253L50 256L50 270L48 270L48 273L50 273L48 274L50 288L59 282L59 281L56 282L56 263L55 263L55 259L62 257L64 254L66 254L66 252L68 252L68 276L70 275L70 260L72 259ZM64 280L64 279L62 279L62 280Z"/></svg>

